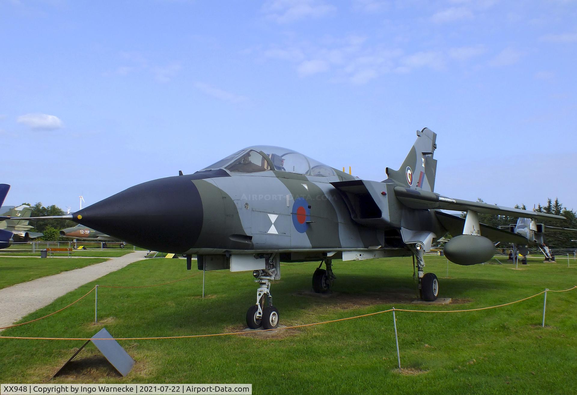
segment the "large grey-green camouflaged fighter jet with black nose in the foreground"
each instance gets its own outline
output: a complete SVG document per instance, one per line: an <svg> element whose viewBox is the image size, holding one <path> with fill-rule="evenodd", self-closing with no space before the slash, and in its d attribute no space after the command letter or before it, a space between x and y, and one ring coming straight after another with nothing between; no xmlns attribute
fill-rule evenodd
<svg viewBox="0 0 577 395"><path fill-rule="evenodd" d="M436 148L433 131L417 131L399 170L387 168L388 178L378 182L291 149L251 146L194 174L141 183L63 217L145 249L185 254L189 269L197 254L198 269L252 270L259 286L246 313L250 328L279 324L271 281L280 279L280 261L319 260L313 289L328 292L334 259L412 256L422 298L434 300L439 281L424 272L424 253L447 232L454 237L445 255L459 265L492 258L493 242L526 240L479 224L477 213L564 219L434 193Z"/></svg>

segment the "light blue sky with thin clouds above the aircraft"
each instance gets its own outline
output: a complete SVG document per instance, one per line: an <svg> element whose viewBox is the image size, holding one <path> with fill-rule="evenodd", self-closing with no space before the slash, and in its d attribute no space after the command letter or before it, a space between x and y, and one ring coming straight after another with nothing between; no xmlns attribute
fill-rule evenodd
<svg viewBox="0 0 577 395"><path fill-rule="evenodd" d="M78 208L287 146L361 178L577 209L577 2L0 0L6 204Z"/></svg>

